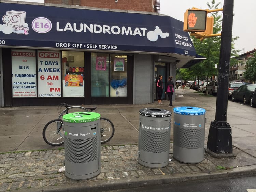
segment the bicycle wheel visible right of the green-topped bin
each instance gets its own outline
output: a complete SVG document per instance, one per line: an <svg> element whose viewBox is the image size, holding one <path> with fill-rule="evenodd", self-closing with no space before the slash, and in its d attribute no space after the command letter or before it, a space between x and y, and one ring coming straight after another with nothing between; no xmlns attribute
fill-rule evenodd
<svg viewBox="0 0 256 192"><path fill-rule="evenodd" d="M114 124L107 118L100 118L100 143L106 143L114 136Z"/></svg>

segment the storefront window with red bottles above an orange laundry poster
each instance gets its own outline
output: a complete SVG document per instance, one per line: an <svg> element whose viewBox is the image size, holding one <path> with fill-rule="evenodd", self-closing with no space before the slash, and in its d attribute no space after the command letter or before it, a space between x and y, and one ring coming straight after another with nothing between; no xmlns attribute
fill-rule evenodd
<svg viewBox="0 0 256 192"><path fill-rule="evenodd" d="M63 97L84 97L84 52L62 51Z"/></svg>

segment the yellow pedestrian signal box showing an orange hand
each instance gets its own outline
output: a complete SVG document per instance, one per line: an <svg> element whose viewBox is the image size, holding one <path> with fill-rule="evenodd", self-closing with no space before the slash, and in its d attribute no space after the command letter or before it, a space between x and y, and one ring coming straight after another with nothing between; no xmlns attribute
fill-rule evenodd
<svg viewBox="0 0 256 192"><path fill-rule="evenodd" d="M206 30L207 10L187 9L184 13L183 31L204 32Z"/></svg>

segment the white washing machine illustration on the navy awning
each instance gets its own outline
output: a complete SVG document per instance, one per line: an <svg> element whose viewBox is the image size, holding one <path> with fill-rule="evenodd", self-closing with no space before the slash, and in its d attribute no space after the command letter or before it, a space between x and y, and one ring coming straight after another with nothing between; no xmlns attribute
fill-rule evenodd
<svg viewBox="0 0 256 192"><path fill-rule="evenodd" d="M7 26L13 28L12 32L17 34L28 34L28 24L25 23L26 20L26 12L25 11L6 11L6 15L2 17L4 23Z"/></svg>

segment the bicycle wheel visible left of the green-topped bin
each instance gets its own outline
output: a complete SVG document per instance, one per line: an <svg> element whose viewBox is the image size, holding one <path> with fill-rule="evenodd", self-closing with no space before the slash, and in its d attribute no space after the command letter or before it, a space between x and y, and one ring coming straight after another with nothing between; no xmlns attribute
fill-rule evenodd
<svg viewBox="0 0 256 192"><path fill-rule="evenodd" d="M43 129L44 141L52 146L62 145L64 143L64 130L62 125L63 121L61 119L49 121Z"/></svg>

